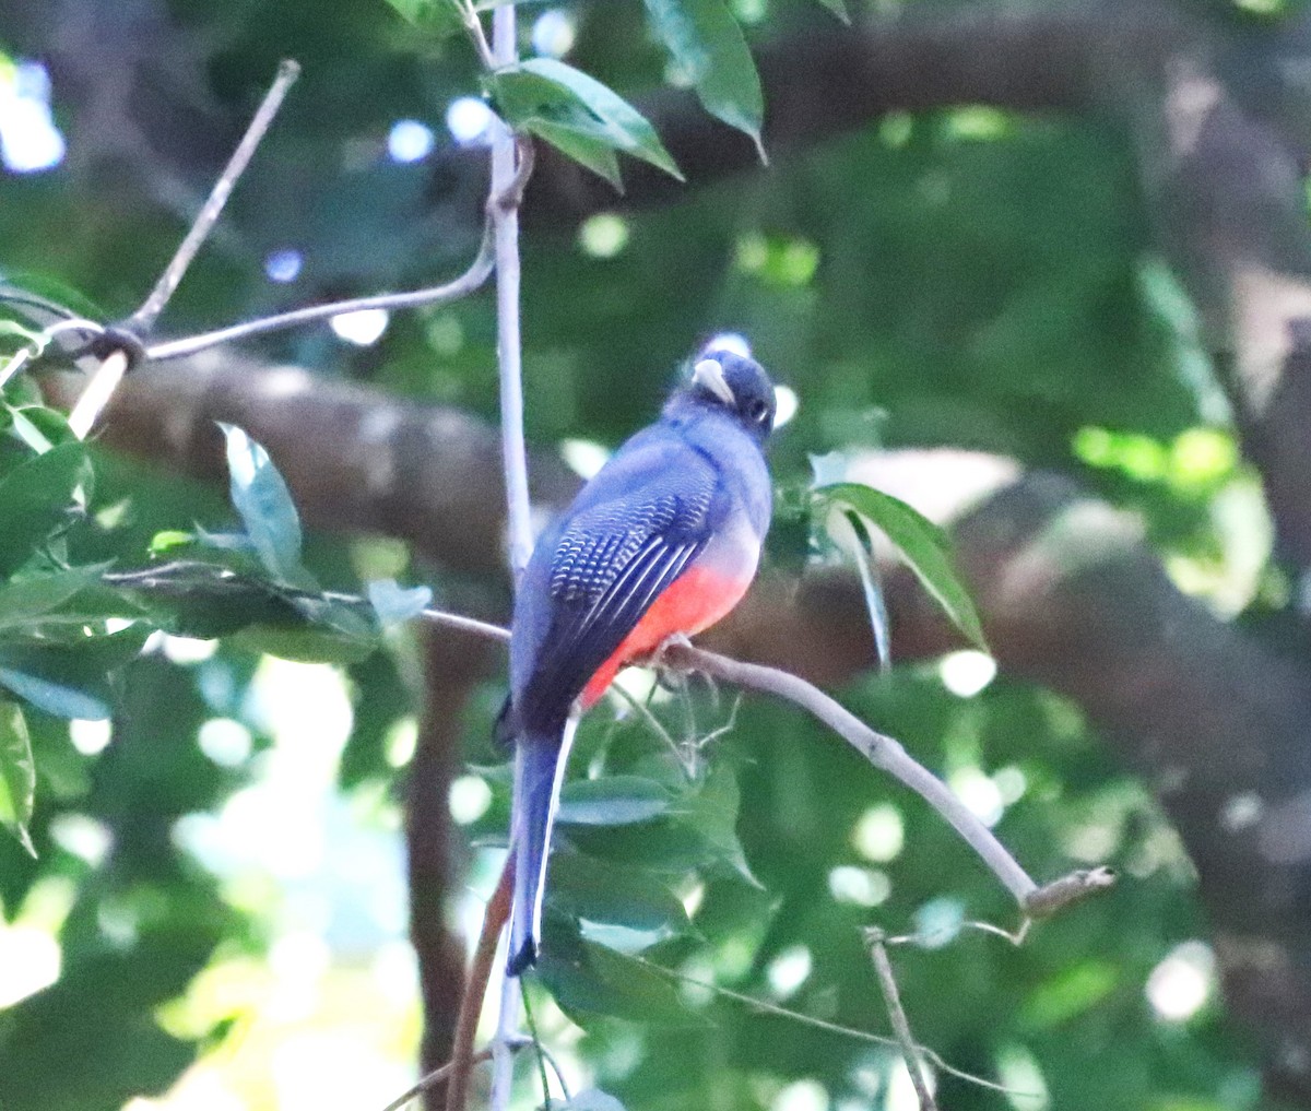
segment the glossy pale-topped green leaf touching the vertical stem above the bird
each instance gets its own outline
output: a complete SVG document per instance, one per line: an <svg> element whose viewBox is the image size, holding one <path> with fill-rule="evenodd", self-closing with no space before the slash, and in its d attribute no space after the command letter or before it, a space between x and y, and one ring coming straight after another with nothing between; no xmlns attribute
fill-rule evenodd
<svg viewBox="0 0 1311 1111"><path fill-rule="evenodd" d="M540 135L611 181L617 178L617 166L599 156L599 149L632 155L683 179L646 118L573 66L530 58L493 73L492 90L511 127Z"/></svg>

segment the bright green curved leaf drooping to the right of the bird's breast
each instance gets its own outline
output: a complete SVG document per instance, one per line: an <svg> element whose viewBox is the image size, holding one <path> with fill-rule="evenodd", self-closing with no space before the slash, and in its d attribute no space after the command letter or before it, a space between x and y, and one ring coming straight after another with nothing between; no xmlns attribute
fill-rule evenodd
<svg viewBox="0 0 1311 1111"><path fill-rule="evenodd" d="M950 542L936 524L899 498L860 482L836 482L814 493L826 507L851 508L895 544L952 624L982 651L988 650L978 611L952 563Z"/></svg>

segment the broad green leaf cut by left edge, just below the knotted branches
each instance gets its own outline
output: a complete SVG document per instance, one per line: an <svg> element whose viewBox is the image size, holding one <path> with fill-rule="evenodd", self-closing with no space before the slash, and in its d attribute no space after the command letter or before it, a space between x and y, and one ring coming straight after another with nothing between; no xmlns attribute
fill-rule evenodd
<svg viewBox="0 0 1311 1111"><path fill-rule="evenodd" d="M0 575L12 575L90 499L92 469L81 443L63 444L16 466L0 482Z"/></svg>

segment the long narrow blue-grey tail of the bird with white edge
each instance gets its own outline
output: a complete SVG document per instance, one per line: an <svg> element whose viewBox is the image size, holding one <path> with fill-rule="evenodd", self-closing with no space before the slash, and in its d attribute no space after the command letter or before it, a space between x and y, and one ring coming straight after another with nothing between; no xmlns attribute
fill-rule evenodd
<svg viewBox="0 0 1311 1111"><path fill-rule="evenodd" d="M518 976L538 959L551 831L577 726L578 719L569 717L560 728L524 732L515 739L510 825L514 903L510 908L510 954L506 962L510 976Z"/></svg>

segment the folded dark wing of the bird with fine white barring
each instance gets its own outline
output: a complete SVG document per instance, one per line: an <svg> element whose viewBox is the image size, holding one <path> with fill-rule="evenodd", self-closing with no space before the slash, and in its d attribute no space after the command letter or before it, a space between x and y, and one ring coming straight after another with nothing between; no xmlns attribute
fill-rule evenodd
<svg viewBox="0 0 1311 1111"><path fill-rule="evenodd" d="M680 453L682 455L682 453ZM551 561L552 616L518 710L568 711L652 603L705 548L717 481L695 452L568 523Z"/></svg>

